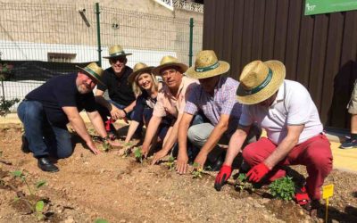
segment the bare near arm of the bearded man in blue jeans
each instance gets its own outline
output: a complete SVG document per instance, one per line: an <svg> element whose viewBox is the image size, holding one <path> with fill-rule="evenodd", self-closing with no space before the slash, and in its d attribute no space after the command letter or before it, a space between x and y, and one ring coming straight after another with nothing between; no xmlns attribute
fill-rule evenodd
<svg viewBox="0 0 357 223"><path fill-rule="evenodd" d="M76 107L66 106L62 107L62 110L67 115L68 120L70 120L71 126L74 128L77 134L86 142L89 149L95 154L100 153L99 150L95 147L91 136L89 136L86 125L84 124L83 119L80 117L78 109Z"/></svg>

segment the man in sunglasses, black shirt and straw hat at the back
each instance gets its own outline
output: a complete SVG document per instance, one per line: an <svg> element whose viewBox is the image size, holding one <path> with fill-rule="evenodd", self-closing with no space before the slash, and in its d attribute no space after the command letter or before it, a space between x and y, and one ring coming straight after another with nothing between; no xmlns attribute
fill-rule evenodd
<svg viewBox="0 0 357 223"><path fill-rule="evenodd" d="M135 107L135 95L129 84L129 75L133 70L127 66L127 56L121 45L112 45L109 48L109 59L111 67L104 70L103 83L98 84L95 91L95 100L99 103L98 111L104 122L109 121L111 137L116 136L116 129L112 126L112 120L130 119L131 111ZM105 100L104 92L108 90L110 100ZM108 120L107 117L112 117ZM141 133L141 128L137 129Z"/></svg>

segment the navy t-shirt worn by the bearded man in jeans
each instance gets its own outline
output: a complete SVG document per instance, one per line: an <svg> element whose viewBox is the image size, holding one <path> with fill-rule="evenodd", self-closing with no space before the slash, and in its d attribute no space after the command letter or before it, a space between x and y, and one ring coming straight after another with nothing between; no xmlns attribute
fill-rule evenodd
<svg viewBox="0 0 357 223"><path fill-rule="evenodd" d="M69 120L62 107L77 107L78 111L95 111L93 92L80 94L76 86L77 73L56 76L25 96L42 103L47 120L54 126L66 125Z"/></svg>

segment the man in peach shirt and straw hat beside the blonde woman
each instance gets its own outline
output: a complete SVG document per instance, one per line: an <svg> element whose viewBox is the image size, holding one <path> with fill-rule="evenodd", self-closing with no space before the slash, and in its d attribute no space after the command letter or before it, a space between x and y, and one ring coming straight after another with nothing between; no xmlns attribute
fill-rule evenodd
<svg viewBox="0 0 357 223"><path fill-rule="evenodd" d="M162 149L155 154L153 164L166 156L178 139L179 120L181 120L186 100L187 91L196 82L183 75L187 70L187 65L178 61L173 56L164 56L160 65L152 70L154 75L162 77L163 87L157 95L157 102L154 106L153 117L146 129L146 136L142 146L142 151L147 156L150 145L157 133L163 118L172 118L171 127L163 142Z"/></svg>

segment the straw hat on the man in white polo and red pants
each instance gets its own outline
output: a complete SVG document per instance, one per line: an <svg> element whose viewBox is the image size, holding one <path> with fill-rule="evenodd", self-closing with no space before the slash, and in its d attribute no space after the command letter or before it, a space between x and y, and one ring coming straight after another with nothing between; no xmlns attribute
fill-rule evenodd
<svg viewBox="0 0 357 223"><path fill-rule="evenodd" d="M274 95L284 81L285 66L279 61L254 61L243 69L237 88L237 100L243 104L255 104Z"/></svg>

